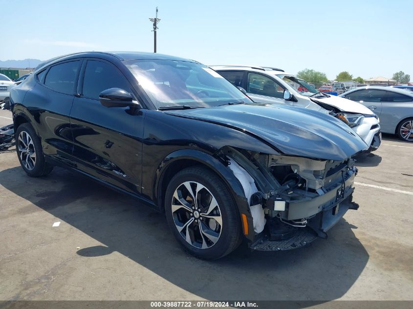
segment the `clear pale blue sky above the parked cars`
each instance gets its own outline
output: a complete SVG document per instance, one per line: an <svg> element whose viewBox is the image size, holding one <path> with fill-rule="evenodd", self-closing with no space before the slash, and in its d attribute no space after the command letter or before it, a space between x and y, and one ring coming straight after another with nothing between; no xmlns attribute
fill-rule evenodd
<svg viewBox="0 0 413 309"><path fill-rule="evenodd" d="M153 51L204 64L254 64L334 79L413 79L413 0L0 0L0 60L75 51ZM8 24L8 29L7 29Z"/></svg>

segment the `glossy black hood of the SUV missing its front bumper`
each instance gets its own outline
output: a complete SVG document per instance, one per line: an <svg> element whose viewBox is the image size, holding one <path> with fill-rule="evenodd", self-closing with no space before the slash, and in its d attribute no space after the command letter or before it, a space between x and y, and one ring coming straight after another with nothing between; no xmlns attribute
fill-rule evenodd
<svg viewBox="0 0 413 309"><path fill-rule="evenodd" d="M236 128L291 156L343 161L368 148L342 121L301 107L234 104L167 113Z"/></svg>

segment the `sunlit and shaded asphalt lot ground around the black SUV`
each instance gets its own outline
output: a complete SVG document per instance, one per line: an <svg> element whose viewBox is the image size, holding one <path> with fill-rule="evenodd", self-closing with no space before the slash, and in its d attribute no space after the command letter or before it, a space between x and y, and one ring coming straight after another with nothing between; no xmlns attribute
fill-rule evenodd
<svg viewBox="0 0 413 309"><path fill-rule="evenodd" d="M327 240L213 262L136 200L61 168L30 178L0 153L0 300L413 300L412 151L387 135L358 159L360 208Z"/></svg>

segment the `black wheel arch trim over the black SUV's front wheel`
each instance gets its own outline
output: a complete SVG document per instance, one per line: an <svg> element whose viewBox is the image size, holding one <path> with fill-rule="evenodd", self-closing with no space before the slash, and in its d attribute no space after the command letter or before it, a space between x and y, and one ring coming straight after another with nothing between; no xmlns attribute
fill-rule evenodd
<svg viewBox="0 0 413 309"><path fill-rule="evenodd" d="M248 222L248 234L245 237L252 241L254 238L253 219L245 197L244 190L234 173L215 157L196 149L181 149L169 154L159 165L156 172L153 192L161 211L165 211L164 197L169 181L184 167L202 165L214 172L227 186L239 215L245 214Z"/></svg>

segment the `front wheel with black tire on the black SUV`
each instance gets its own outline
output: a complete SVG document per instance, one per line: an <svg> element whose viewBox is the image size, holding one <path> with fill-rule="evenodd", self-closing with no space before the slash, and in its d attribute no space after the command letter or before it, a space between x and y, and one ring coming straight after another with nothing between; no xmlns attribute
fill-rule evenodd
<svg viewBox="0 0 413 309"><path fill-rule="evenodd" d="M165 212L177 241L198 258L221 258L241 243L240 216L231 194L221 179L203 166L185 168L171 179Z"/></svg>

